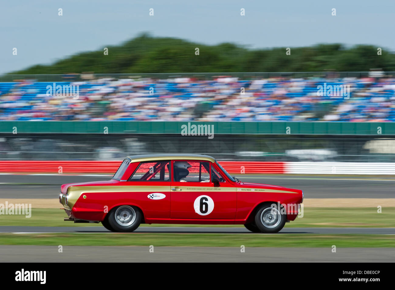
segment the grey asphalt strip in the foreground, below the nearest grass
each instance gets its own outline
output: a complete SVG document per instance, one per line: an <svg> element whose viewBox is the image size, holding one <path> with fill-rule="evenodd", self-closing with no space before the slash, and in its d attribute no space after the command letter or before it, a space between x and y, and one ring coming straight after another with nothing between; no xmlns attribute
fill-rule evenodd
<svg viewBox="0 0 395 290"><path fill-rule="evenodd" d="M0 245L2 262L393 262L390 248L245 248Z"/></svg>

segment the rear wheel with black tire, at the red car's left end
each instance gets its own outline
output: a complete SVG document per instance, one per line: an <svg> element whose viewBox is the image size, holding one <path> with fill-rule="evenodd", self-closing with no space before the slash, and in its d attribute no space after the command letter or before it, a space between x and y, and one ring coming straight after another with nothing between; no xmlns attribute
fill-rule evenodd
<svg viewBox="0 0 395 290"><path fill-rule="evenodd" d="M118 206L108 213L108 223L115 232L133 232L141 222L141 211L135 206Z"/></svg>

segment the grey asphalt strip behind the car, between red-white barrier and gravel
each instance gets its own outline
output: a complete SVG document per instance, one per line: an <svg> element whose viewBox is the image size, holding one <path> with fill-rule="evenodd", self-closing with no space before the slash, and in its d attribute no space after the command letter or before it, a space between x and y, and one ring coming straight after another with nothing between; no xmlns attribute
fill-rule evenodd
<svg viewBox="0 0 395 290"><path fill-rule="evenodd" d="M57 198L61 184L109 179L111 176L0 175L0 198ZM249 175L240 179L302 189L305 198L395 198L393 178Z"/></svg>

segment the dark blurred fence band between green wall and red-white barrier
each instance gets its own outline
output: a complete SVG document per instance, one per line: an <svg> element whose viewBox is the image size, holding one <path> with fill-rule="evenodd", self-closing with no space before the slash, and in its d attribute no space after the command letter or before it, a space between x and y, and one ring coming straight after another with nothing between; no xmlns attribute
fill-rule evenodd
<svg viewBox="0 0 395 290"><path fill-rule="evenodd" d="M204 153L235 161L395 162L395 137L311 135L0 135L0 160L120 160L146 153Z"/></svg>

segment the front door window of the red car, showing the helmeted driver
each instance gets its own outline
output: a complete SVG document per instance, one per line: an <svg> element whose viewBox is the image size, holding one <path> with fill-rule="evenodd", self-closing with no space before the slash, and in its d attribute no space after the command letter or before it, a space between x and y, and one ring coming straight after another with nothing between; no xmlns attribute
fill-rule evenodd
<svg viewBox="0 0 395 290"><path fill-rule="evenodd" d="M210 163L176 160L173 162L173 180L176 182L210 182Z"/></svg>

